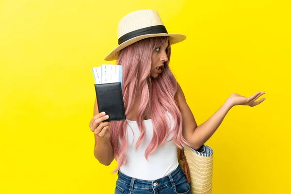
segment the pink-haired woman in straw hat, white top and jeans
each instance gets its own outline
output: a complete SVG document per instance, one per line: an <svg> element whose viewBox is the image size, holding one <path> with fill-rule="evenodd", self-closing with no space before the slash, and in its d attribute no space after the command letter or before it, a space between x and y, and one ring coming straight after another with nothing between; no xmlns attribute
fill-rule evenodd
<svg viewBox="0 0 291 194"><path fill-rule="evenodd" d="M123 66L123 98L127 120L106 122L97 100L89 123L95 133L94 155L118 171L115 194L190 194L178 166L177 149L201 147L235 105L256 106L264 92L252 97L231 94L206 122L197 126L183 91L169 68L171 45L185 40L168 34L158 13L139 10L118 24L119 46L105 60Z"/></svg>

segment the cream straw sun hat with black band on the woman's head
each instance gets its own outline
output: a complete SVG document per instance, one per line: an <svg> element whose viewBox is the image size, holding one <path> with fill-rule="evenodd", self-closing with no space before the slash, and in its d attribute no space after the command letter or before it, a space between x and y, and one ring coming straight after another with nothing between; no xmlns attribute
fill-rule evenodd
<svg viewBox="0 0 291 194"><path fill-rule="evenodd" d="M186 39L183 34L168 33L161 17L155 10L131 12L119 21L117 26L118 46L104 60L116 60L121 49L139 40L156 36L169 36L171 45Z"/></svg>

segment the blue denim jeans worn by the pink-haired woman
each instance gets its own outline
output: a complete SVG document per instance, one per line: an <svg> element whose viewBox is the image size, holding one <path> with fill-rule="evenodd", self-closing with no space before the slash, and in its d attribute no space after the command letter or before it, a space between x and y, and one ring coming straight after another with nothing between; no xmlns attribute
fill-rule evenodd
<svg viewBox="0 0 291 194"><path fill-rule="evenodd" d="M191 191L178 166L168 176L153 181L131 178L118 171L114 194L191 194Z"/></svg>

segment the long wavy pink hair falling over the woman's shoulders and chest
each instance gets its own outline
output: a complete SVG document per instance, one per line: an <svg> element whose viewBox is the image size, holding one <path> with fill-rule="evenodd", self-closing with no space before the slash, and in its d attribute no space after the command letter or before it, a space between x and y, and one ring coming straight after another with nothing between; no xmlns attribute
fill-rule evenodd
<svg viewBox="0 0 291 194"><path fill-rule="evenodd" d="M174 131L172 140L182 148L188 145L182 136L182 117L178 108L177 81L169 68L171 47L167 49L168 61L164 62L162 74L157 78L150 77L152 66L152 53L162 46L165 41L170 40L167 36L150 37L140 40L120 50L116 64L122 65L122 93L125 105L125 112L128 115L136 96L140 96L140 104L136 113L136 122L140 130L140 136L136 143L136 149L140 146L145 137L144 117L149 114L153 123L153 137L145 151L145 157L152 154L160 146L168 134ZM165 119L165 112L172 114L174 127L169 130ZM118 165L113 172L116 172L121 165L127 162L127 121L112 122L109 132L110 141L113 146L113 154Z"/></svg>

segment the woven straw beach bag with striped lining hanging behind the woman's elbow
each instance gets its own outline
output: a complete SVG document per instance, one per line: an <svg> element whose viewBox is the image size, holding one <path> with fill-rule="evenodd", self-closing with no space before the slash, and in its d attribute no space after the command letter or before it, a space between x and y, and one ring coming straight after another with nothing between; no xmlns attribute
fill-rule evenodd
<svg viewBox="0 0 291 194"><path fill-rule="evenodd" d="M186 175L192 194L212 193L213 150L203 145L198 150L178 149L178 162Z"/></svg>

